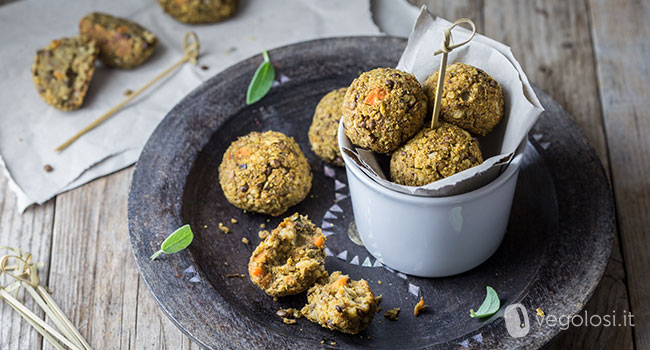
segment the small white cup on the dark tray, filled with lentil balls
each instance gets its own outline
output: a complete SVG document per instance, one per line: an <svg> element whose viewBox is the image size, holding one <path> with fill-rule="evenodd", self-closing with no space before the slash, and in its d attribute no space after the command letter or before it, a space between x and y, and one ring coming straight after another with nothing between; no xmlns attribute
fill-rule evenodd
<svg viewBox="0 0 650 350"><path fill-rule="evenodd" d="M339 147L345 138L339 125ZM350 166L342 150L354 220L364 246L395 270L444 277L487 260L506 232L525 141L492 182L449 197L422 197L388 189Z"/></svg>

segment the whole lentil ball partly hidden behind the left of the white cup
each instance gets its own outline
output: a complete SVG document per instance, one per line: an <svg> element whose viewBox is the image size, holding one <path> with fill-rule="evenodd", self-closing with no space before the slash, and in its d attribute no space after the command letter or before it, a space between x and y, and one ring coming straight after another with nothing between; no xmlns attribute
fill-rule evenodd
<svg viewBox="0 0 650 350"><path fill-rule="evenodd" d="M309 127L311 149L324 161L336 166L344 165L336 135L341 120L341 105L347 89L336 89L325 95L318 102Z"/></svg>

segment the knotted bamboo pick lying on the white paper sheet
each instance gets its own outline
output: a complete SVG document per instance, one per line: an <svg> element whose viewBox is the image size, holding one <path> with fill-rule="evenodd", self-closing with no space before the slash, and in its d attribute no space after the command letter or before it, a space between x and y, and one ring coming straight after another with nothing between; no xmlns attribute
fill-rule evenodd
<svg viewBox="0 0 650 350"><path fill-rule="evenodd" d="M88 124L85 128L81 129L79 132L77 132L66 142L62 143L59 147L55 148L54 151L60 152L66 149L68 146L70 146L73 142L77 141L77 139L79 139L85 133L96 128L99 124L106 121L106 119L110 118L113 114L115 114L115 112L119 111L127 103L131 102L131 100L136 98L136 96L138 96L144 90L151 87L151 85L155 84L158 80L162 79L165 75L169 74L176 68L180 67L185 62L189 61L190 63L196 65L196 58L199 56L199 49L200 49L199 38L196 36L196 34L194 32L185 33L185 39L183 40L183 51L185 52L185 55L183 56L183 58L181 58L178 62L174 63L171 67L165 69L162 73L158 74L155 78L153 78L153 80L145 84L143 87L133 92L131 95L125 98L124 101L120 102L117 106L111 108L104 115L95 119L92 123Z"/></svg>

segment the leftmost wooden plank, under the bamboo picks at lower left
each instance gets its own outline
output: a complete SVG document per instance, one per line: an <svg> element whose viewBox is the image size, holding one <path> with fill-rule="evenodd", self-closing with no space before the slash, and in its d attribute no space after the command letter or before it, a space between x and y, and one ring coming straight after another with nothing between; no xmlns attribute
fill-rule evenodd
<svg viewBox="0 0 650 350"><path fill-rule="evenodd" d="M5 176L0 173L0 246L23 249L32 253L36 261L44 262L46 266L40 271L44 283L47 283L48 277L53 218L54 200L29 208L21 214L16 207L16 196L9 189ZM4 281L7 280L3 280L3 284L6 283ZM36 310L31 298L25 300L27 307ZM0 349L40 349L42 338L38 332L4 302L0 302L0 325Z"/></svg>

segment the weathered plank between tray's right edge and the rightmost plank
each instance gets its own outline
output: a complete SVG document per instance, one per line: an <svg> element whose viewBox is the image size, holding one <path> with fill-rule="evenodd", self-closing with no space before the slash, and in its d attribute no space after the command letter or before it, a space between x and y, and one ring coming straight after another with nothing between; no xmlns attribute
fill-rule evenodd
<svg viewBox="0 0 650 350"><path fill-rule="evenodd" d="M506 11L507 9L507 11ZM485 2L485 34L512 47L531 81L572 115L608 168L591 43L588 8L583 1ZM618 237L589 314L629 310ZM562 333L553 348L633 348L630 327L577 327Z"/></svg>

